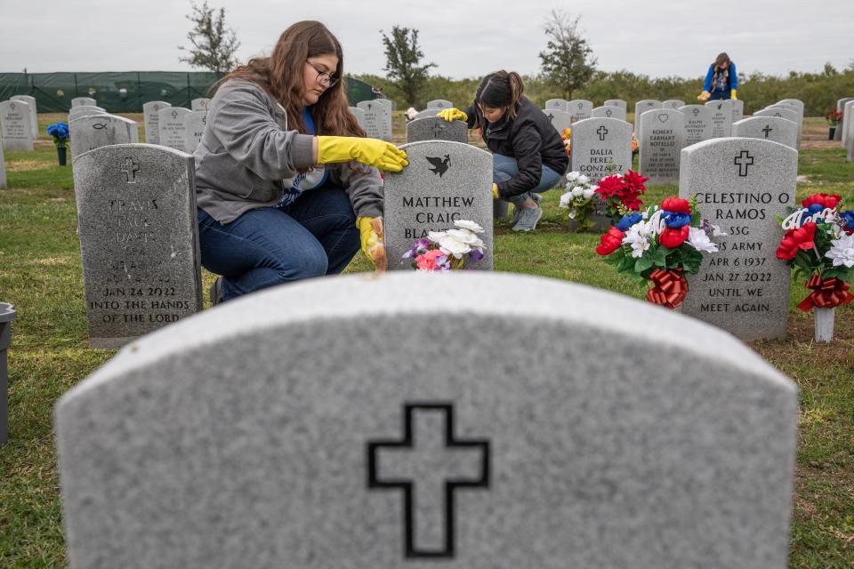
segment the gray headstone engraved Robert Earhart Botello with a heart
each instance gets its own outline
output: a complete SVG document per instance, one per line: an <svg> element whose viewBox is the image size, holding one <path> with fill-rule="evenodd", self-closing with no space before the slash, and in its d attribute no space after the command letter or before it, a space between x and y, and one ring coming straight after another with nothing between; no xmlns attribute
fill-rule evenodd
<svg viewBox="0 0 854 569"><path fill-rule="evenodd" d="M679 183L679 159L685 147L685 116L673 108L656 108L641 115L641 175L648 186Z"/></svg>

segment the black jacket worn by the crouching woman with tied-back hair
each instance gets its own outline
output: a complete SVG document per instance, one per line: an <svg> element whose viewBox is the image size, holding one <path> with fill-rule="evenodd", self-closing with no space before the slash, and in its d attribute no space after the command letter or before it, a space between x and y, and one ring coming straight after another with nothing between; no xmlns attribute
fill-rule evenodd
<svg viewBox="0 0 854 569"><path fill-rule="evenodd" d="M495 154L512 156L519 164L519 174L498 182L498 195L518 196L540 183L542 166L563 174L569 165L567 148L548 116L527 97L519 101L516 118L505 115L497 123L487 123L477 104L463 111L469 117L469 128L482 124L480 135Z"/></svg>

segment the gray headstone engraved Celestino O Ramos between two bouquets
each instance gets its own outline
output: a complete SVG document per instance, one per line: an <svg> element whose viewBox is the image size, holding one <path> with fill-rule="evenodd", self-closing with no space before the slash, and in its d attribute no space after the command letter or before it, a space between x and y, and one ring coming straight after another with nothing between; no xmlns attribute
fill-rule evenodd
<svg viewBox="0 0 854 569"><path fill-rule="evenodd" d="M777 259L794 205L798 153L769 140L706 140L682 150L680 196L697 195L703 217L727 234L689 276L682 313L744 341L785 338L789 268Z"/></svg>

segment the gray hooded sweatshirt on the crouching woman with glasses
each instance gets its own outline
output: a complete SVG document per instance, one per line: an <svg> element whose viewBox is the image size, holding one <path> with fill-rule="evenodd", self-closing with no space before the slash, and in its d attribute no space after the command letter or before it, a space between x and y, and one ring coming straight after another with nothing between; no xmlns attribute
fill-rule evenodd
<svg viewBox="0 0 854 569"><path fill-rule="evenodd" d="M222 224L278 204L298 168L313 165L312 136L288 130L285 108L257 84L231 79L211 100L196 159L197 204ZM383 215L380 172L357 162L327 164L357 217ZM310 190L308 190L310 191Z"/></svg>

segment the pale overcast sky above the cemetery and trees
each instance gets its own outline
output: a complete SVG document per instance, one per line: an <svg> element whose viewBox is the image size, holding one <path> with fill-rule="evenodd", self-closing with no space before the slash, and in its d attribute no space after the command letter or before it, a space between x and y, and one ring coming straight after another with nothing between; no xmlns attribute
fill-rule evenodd
<svg viewBox="0 0 854 569"><path fill-rule="evenodd" d="M201 0L199 0L199 4ZM606 71L700 76L718 52L743 73L785 75L854 60L852 0L209 0L226 9L238 59L267 54L298 20L321 20L341 40L345 70L384 75L380 30L417 28L433 74L533 74L552 8L582 17ZM184 71L189 0L0 0L0 72Z"/></svg>

